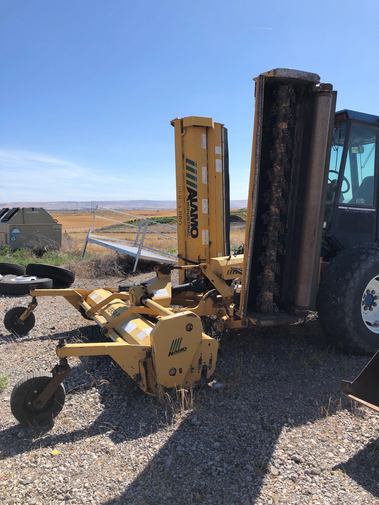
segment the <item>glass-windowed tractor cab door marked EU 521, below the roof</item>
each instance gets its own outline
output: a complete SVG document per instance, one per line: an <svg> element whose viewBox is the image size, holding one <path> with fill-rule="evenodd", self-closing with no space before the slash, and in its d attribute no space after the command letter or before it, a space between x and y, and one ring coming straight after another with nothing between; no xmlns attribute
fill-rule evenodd
<svg viewBox="0 0 379 505"><path fill-rule="evenodd" d="M331 196L329 181L336 175L338 180L333 181L335 192L333 201L329 202L334 205L333 211L329 211L333 214L329 215L331 226L328 235L345 249L377 240L378 128L369 123L350 121L339 126L338 134L343 152L334 156L335 167L339 166L339 170L329 168L328 198Z"/></svg>

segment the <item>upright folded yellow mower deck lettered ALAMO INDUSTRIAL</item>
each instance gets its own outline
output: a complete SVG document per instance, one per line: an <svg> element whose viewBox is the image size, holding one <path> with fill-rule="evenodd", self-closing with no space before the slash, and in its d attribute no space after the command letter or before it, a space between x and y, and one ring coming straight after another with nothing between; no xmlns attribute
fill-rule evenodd
<svg viewBox="0 0 379 505"><path fill-rule="evenodd" d="M225 256L223 125L191 116L175 128L178 254L204 263ZM179 265L186 262L179 258ZM191 264L191 263L190 263ZM185 272L179 271L179 283Z"/></svg>

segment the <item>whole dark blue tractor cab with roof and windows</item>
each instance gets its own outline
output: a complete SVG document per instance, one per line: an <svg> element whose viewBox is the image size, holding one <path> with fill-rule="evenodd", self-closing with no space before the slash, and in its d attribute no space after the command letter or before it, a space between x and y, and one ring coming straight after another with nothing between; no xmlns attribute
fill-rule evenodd
<svg viewBox="0 0 379 505"><path fill-rule="evenodd" d="M331 143L321 256L378 242L377 150L379 117L336 112Z"/></svg>

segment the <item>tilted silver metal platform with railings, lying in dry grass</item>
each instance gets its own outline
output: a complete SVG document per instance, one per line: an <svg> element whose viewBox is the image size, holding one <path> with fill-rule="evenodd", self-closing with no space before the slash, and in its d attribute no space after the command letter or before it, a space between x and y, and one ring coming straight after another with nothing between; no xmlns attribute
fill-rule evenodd
<svg viewBox="0 0 379 505"><path fill-rule="evenodd" d="M104 216L99 216L99 215L97 215L98 209L104 209L107 212L113 212L115 214L121 214L123 216L131 217L134 220L136 220L137 222L139 220L139 224L138 225L133 225L133 224L130 224L130 223L125 223L124 221L117 221L115 219L106 218ZM94 233L92 233L92 229L93 229L93 225L94 225L95 219L103 219L105 221L110 221L112 223L117 223L118 225L122 225L122 227L134 228L136 230L136 235L135 235L134 241L123 240L123 239L115 238L115 237L105 237L104 235L95 235ZM144 224L144 222L145 222L145 224ZM119 243L119 244L121 243L121 245L128 244L128 245L131 245L133 248L137 249L136 251L135 250L132 251L132 254L131 254L131 256L134 256L134 253L135 253L135 262L134 262L133 272L135 272L135 269L137 268L137 263L138 263L138 260L139 260L139 258L141 256L141 251L143 249L145 249L147 251L158 252L161 255L167 256L168 257L167 259L170 259L171 261L172 260L177 261L177 256L171 254L170 252L162 251L160 249L155 249L154 247L150 247L148 245L144 245L145 237L146 237L146 234L148 232L149 233L155 233L157 235L161 235L161 236L164 236L164 237L168 237L168 238L171 238L171 239L174 239L174 240L177 241L177 237L175 237L174 235L169 235L168 233L162 233L162 232L159 232L159 231L155 231L155 230L152 230L151 228L149 229L149 225L151 223L154 223L155 225L159 225L159 226L164 226L164 227L170 228L170 230L172 230L171 233L177 232L177 227L176 226L171 226L171 225L164 224L164 223L158 223L157 221L153 221L152 219L149 219L149 218L143 218L143 217L140 218L140 217L137 217L137 216L133 216L132 214L126 214L125 212L120 212L120 211L116 211L116 210L113 210L113 209L107 209L106 207L101 207L101 206L97 205L96 209L95 209L95 212L93 214L93 219L92 219L91 226L90 226L90 228L88 230L88 233L87 233L87 236L85 238L83 252L82 252L81 256L83 258L84 253L85 253L85 249L87 247L87 243L91 241L90 240L91 238L93 238L93 239L97 240L96 243L98 245L101 245L101 243L99 243L99 242L101 242L103 240L103 241L111 241L111 242L115 242L115 243ZM103 230L103 232L105 232L105 231ZM138 242L138 240L139 240L139 242ZM106 245L104 245L104 246L106 247ZM125 250L125 254L128 254L127 250ZM154 260L154 258L152 258L152 259Z"/></svg>

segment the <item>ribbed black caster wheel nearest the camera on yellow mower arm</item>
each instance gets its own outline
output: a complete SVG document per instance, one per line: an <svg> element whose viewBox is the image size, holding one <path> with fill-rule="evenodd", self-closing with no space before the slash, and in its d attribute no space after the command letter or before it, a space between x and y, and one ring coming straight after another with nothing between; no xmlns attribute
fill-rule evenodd
<svg viewBox="0 0 379 505"><path fill-rule="evenodd" d="M39 426L53 421L61 412L65 403L66 392L60 384L55 393L46 401L41 409L33 406L33 401L49 384L51 372L32 372L20 379L11 394L11 411L17 421L23 426Z"/></svg>

